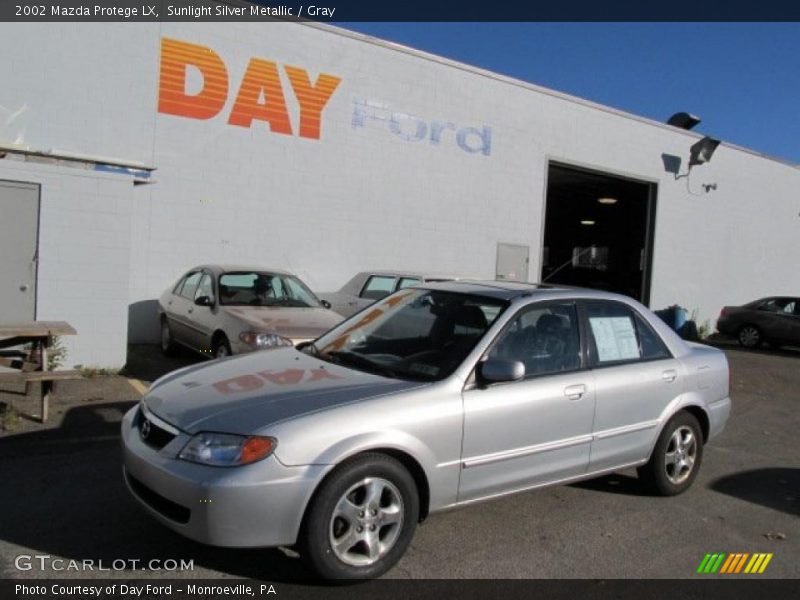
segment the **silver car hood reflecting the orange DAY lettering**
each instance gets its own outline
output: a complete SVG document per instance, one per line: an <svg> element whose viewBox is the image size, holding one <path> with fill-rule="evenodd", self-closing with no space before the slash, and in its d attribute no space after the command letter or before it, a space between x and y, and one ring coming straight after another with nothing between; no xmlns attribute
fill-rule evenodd
<svg viewBox="0 0 800 600"><path fill-rule="evenodd" d="M215 360L156 381L144 403L188 433L250 435L269 425L430 385L390 379L334 365L294 348Z"/></svg>

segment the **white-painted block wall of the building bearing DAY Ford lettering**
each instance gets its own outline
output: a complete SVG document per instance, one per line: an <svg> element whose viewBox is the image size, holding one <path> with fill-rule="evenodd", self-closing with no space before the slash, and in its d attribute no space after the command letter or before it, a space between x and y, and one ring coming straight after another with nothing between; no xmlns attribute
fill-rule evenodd
<svg viewBox="0 0 800 600"><path fill-rule="evenodd" d="M549 160L657 184L653 307L679 303L703 321L723 304L800 287L792 250L800 171L723 145L687 188L665 172L662 154L681 156L685 170L697 134L330 28L15 24L0 33L0 50L14 57L0 64L4 81L14 83L0 89L0 106L25 109L0 125L0 138L158 169L155 184L127 189L128 202L103 205L115 204L129 224L128 289L95 306L114 319L127 311L131 341L157 339L155 299L202 262L288 268L325 291L373 267L493 277L496 245L507 242L530 246L535 280ZM228 90L218 115L158 112L162 38L209 47L223 60ZM262 121L228 124L253 57L278 65L294 135ZM341 78L319 140L297 136L299 106L285 65L306 69L312 82L319 73ZM194 69L188 87L202 87ZM363 118L364 103L372 117ZM393 125L391 113L406 117ZM426 135L414 139L420 123ZM434 123L438 143L430 140ZM477 151L463 150L456 132L466 127L489 128L490 148L488 136L471 134ZM11 178L4 169L0 161L0 176ZM53 186L63 185L61 171L48 173ZM717 191L697 195L711 182ZM44 211L43 222L51 219ZM42 245L69 241L42 230ZM42 308L58 304L54 294L40 282ZM83 310L69 306L54 316L72 320L73 309ZM91 344L81 335L75 356L95 356ZM121 352L106 356L118 361Z"/></svg>

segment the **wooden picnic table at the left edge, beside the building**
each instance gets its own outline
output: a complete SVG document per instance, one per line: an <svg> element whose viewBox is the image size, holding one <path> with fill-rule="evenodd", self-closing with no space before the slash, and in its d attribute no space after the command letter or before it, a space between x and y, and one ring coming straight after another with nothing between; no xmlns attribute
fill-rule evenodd
<svg viewBox="0 0 800 600"><path fill-rule="evenodd" d="M60 379L80 377L78 371L51 371L47 353L57 335L77 335L77 331L64 321L28 321L0 323L0 350L30 345L27 351L12 350L0 353L0 367L11 369L0 372L0 383L25 383L25 394L30 384L40 382L42 387L41 421L47 420L50 392L53 383Z"/></svg>

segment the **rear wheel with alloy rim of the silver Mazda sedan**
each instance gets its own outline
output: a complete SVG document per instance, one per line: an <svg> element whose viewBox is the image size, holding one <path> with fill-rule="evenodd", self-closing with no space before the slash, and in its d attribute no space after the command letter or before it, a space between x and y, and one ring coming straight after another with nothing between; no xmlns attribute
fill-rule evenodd
<svg viewBox="0 0 800 600"><path fill-rule="evenodd" d="M649 462L639 467L639 479L659 496L685 492L694 482L703 460L703 432L694 415L681 411L658 436Z"/></svg>

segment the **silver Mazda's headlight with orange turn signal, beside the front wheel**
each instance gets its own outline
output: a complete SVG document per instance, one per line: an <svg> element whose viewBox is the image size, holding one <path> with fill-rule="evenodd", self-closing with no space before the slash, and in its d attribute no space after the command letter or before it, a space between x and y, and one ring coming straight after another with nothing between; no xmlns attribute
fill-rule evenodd
<svg viewBox="0 0 800 600"><path fill-rule="evenodd" d="M178 458L213 467L235 467L267 458L277 445L278 440L271 437L204 432L189 440Z"/></svg>

